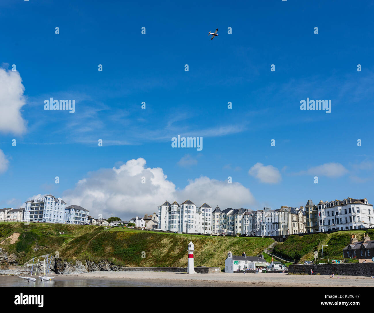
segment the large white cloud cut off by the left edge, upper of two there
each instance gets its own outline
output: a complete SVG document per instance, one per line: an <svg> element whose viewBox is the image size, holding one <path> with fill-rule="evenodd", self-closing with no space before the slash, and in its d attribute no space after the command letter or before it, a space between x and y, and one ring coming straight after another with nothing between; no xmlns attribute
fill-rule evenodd
<svg viewBox="0 0 374 313"><path fill-rule="evenodd" d="M22 134L26 130L21 108L25 105L24 86L19 72L0 68L0 132Z"/></svg>

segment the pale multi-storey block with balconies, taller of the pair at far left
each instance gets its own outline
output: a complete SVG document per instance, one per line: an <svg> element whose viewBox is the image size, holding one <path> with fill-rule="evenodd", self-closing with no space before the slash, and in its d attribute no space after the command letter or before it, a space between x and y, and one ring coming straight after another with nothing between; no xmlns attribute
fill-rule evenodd
<svg viewBox="0 0 374 313"><path fill-rule="evenodd" d="M66 202L61 198L46 195L25 202L25 220L47 223L64 223Z"/></svg>

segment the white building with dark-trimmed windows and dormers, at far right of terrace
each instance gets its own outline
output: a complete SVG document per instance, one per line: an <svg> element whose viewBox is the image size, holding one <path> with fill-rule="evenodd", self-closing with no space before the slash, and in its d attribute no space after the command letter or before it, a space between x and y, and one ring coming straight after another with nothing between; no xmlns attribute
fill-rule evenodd
<svg viewBox="0 0 374 313"><path fill-rule="evenodd" d="M346 230L374 227L373 205L367 198L319 201L319 231Z"/></svg>

